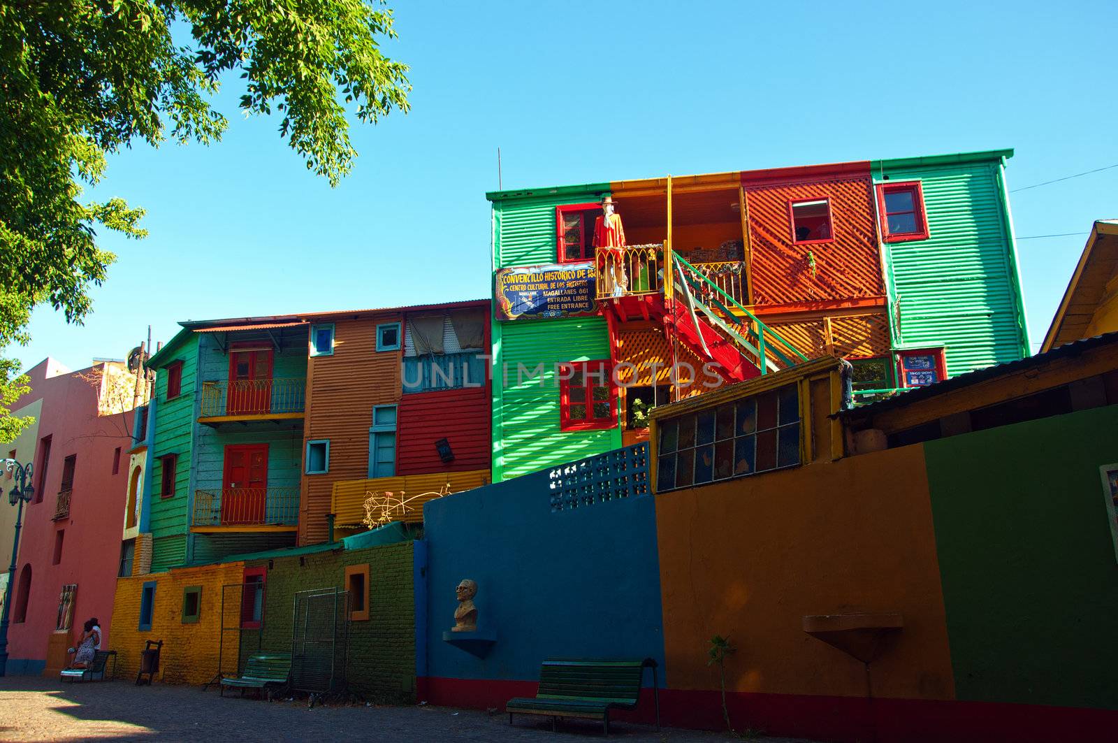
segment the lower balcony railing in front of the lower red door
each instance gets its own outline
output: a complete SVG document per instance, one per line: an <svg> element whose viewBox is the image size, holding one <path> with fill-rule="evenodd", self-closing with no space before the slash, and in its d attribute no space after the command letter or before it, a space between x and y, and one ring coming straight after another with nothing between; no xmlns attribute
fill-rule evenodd
<svg viewBox="0 0 1118 743"><path fill-rule="evenodd" d="M294 532L297 525L297 487L195 491L191 532Z"/></svg>

